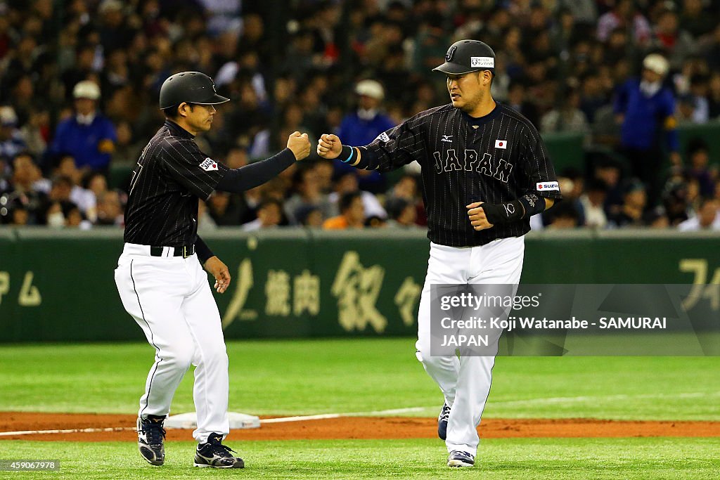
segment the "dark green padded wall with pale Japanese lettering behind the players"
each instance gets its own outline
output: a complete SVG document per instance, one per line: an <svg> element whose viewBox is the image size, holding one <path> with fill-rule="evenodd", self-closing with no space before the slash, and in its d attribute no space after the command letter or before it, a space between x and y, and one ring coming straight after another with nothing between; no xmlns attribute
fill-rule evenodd
<svg viewBox="0 0 720 480"><path fill-rule="evenodd" d="M424 232L231 229L203 237L233 276L215 294L227 338L415 333ZM720 284L719 247L720 235L701 233L531 232L522 279L702 289ZM114 285L121 250L117 230L0 228L0 342L143 339Z"/></svg>

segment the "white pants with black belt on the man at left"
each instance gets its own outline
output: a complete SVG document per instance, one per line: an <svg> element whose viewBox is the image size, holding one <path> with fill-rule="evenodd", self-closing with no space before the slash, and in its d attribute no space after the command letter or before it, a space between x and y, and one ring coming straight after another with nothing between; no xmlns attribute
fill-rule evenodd
<svg viewBox="0 0 720 480"><path fill-rule="evenodd" d="M171 248L164 250L172 255ZM156 350L138 415L168 415L175 390L192 364L197 410L192 435L198 443L210 433L225 438L230 433L228 353L220 312L197 255L153 257L150 246L126 243L115 284L125 310Z"/></svg>

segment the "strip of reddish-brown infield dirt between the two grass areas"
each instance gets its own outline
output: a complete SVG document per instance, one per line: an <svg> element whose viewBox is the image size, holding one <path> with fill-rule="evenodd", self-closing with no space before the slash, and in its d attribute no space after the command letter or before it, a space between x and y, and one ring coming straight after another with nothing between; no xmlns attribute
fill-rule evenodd
<svg viewBox="0 0 720 480"><path fill-rule="evenodd" d="M0 433L24 430L116 429L102 432L33 433L0 440L133 441L133 415L2 412ZM435 438L437 422L418 417L341 417L274 422L233 430L232 440L332 440ZM720 422L641 422L593 419L482 420L481 438L720 437ZM191 440L191 430L168 430L168 440Z"/></svg>

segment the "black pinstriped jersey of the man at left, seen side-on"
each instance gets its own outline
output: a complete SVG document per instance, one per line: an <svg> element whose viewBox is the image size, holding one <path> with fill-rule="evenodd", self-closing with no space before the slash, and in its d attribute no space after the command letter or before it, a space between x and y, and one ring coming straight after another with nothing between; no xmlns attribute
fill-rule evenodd
<svg viewBox="0 0 720 480"><path fill-rule="evenodd" d="M198 199L207 199L228 167L202 153L173 122L148 142L132 171L125 242L179 247L197 240Z"/></svg>

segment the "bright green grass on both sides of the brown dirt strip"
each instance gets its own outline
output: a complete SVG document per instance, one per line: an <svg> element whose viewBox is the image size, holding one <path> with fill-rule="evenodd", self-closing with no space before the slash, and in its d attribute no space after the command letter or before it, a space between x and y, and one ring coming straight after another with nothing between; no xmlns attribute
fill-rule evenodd
<svg viewBox="0 0 720 480"><path fill-rule="evenodd" d="M230 409L256 415L374 412L423 407L441 395L415 359L412 339L228 343ZM132 414L153 349L144 344L0 346L0 411ZM720 420L720 358L499 357L485 417ZM192 411L192 373L174 412ZM4 478L253 479L716 479L720 438L492 439L478 466L449 471L440 440L303 440L228 443L245 471L190 467L193 444L168 443L162 468L133 443L0 440L0 458L59 459L60 472Z"/></svg>

